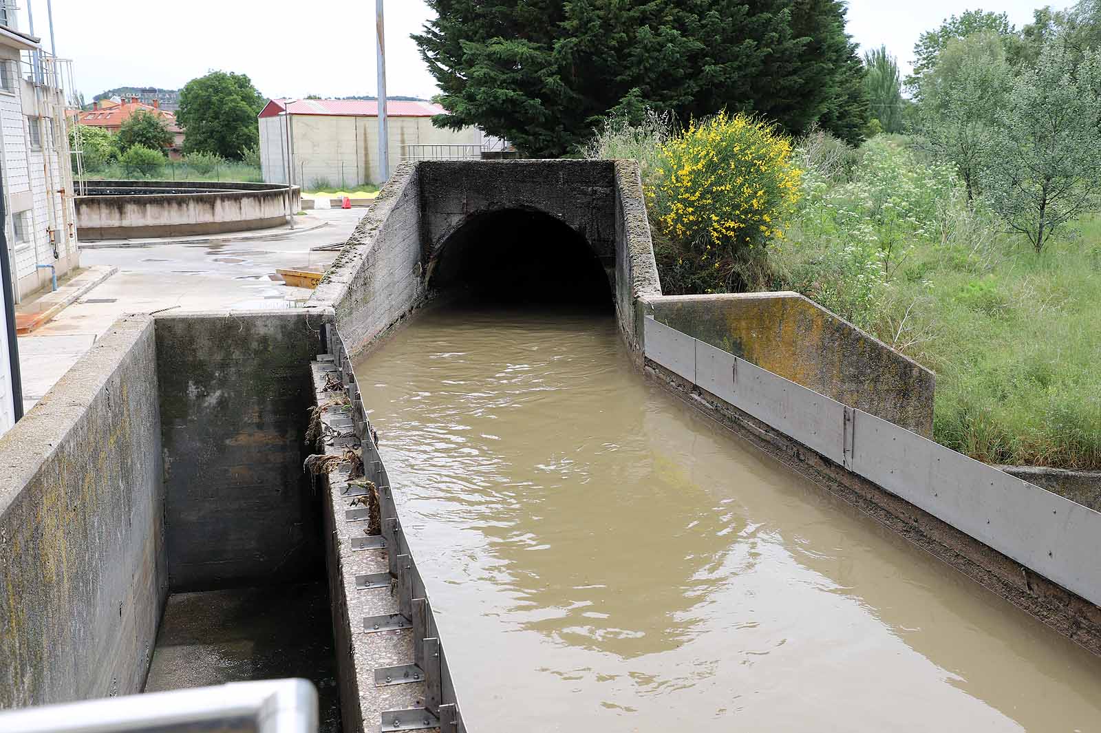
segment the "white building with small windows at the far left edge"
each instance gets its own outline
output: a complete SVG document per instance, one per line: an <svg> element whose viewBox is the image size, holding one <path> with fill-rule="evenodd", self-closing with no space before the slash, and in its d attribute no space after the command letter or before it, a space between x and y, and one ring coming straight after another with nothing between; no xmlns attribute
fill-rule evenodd
<svg viewBox="0 0 1101 733"><path fill-rule="evenodd" d="M79 264L73 172L66 133L72 65L19 30L11 0L0 0L0 256L10 267L15 303L51 287ZM65 80L65 84L63 84ZM64 87L64 88L63 88ZM2 303L2 298L0 298ZM0 314L4 318L10 314ZM4 321L0 321L0 330ZM8 339L0 338L0 431L14 419Z"/></svg>

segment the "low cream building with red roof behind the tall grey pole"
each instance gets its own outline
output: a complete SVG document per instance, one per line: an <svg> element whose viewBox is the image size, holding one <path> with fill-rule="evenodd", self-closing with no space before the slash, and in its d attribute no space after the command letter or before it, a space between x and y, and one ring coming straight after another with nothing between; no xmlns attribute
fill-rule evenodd
<svg viewBox="0 0 1101 733"><path fill-rule="evenodd" d="M478 128L444 130L427 101L388 101L390 169L403 160L480 157L502 142ZM358 99L272 99L259 116L265 183L304 188L378 184L379 103Z"/></svg>

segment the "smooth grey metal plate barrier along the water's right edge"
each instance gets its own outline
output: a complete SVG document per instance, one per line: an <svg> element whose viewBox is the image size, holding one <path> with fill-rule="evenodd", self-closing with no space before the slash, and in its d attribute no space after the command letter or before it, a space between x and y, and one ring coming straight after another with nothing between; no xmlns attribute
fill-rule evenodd
<svg viewBox="0 0 1101 733"><path fill-rule="evenodd" d="M1101 605L1101 513L646 317L645 355Z"/></svg>

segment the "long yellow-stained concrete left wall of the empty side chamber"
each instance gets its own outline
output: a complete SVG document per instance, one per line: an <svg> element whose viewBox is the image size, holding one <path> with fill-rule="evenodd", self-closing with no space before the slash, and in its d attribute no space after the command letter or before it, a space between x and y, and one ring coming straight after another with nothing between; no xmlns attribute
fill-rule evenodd
<svg viewBox="0 0 1101 733"><path fill-rule="evenodd" d="M141 691L166 597L154 326L131 317L0 438L0 708Z"/></svg>

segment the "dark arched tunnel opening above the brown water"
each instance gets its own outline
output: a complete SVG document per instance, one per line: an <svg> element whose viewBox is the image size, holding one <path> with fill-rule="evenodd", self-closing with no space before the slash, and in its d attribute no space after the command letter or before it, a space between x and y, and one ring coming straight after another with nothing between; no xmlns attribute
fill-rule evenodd
<svg viewBox="0 0 1101 733"><path fill-rule="evenodd" d="M472 300L612 307L614 275L585 237L541 211L477 216L447 238L429 266L429 286Z"/></svg>

